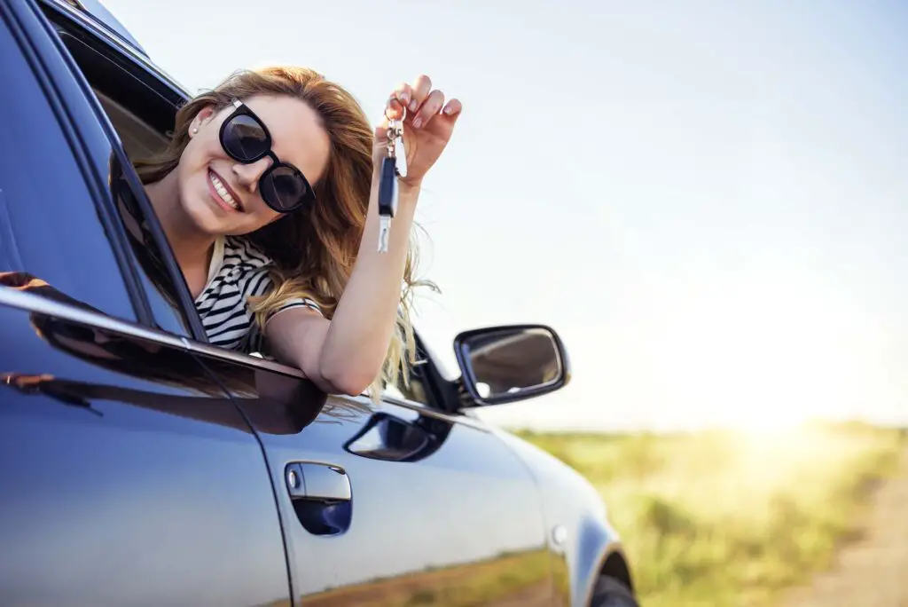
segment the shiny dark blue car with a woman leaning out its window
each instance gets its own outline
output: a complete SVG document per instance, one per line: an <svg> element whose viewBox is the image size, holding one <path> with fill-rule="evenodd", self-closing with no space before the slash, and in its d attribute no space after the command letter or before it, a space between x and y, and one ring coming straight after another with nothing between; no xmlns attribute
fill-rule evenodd
<svg viewBox="0 0 908 607"><path fill-rule="evenodd" d="M215 347L129 160L188 94L87 0L0 0L0 82L0 605L637 604L594 488L475 414L568 383L555 331L418 340L379 403Z"/></svg>

